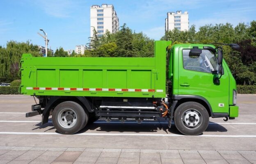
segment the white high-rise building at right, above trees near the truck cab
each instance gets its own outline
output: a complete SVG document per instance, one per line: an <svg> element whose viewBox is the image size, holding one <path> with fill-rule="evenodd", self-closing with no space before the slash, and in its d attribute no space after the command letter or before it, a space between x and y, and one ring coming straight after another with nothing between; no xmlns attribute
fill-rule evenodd
<svg viewBox="0 0 256 164"><path fill-rule="evenodd" d="M171 31L178 29L180 31L188 30L188 13L185 11L183 14L181 11L168 12L167 18L165 18L165 31Z"/></svg>

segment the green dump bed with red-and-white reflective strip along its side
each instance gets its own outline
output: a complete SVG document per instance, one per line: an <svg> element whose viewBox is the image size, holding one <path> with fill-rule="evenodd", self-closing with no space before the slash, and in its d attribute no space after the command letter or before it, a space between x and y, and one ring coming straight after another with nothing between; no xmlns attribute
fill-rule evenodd
<svg viewBox="0 0 256 164"><path fill-rule="evenodd" d="M155 57L21 58L21 93L41 96L165 97L166 47Z"/></svg>

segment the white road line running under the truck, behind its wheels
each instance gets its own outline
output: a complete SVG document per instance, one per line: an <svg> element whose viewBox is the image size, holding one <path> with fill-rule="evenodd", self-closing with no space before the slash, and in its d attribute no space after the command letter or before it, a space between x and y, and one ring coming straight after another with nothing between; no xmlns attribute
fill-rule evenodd
<svg viewBox="0 0 256 164"><path fill-rule="evenodd" d="M9 120L0 120L0 122L2 123L40 123L41 121L9 121ZM53 121L48 121L48 123L52 123ZM107 123L105 121L98 121L98 122L94 122L94 123ZM119 123L122 124L121 122L110 122L108 124L112 124L112 123ZM137 122L124 122L124 123L135 123L137 124ZM142 123L146 123L146 124L168 124L167 122L142 122ZM171 123L174 124L174 123ZM215 125L215 124L233 124L233 125L256 125L256 123L209 123L209 125Z"/></svg>

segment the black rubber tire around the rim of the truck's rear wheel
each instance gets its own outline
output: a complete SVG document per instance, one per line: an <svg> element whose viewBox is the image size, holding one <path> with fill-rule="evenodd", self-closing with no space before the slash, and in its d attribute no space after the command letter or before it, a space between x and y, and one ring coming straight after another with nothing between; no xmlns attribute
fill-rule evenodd
<svg viewBox="0 0 256 164"><path fill-rule="evenodd" d="M72 110L76 115L76 117L73 117L73 119L76 119L76 120L74 121L75 123L72 125L71 128L65 128L62 125L61 121L58 121L59 115L62 114L62 111L66 109ZM74 134L79 130L81 130L88 123L88 112L84 110L82 106L78 103L75 103L73 101L65 101L55 107L55 109L53 110L52 118L53 118L53 125L59 133ZM65 121L63 120L63 122Z"/></svg>

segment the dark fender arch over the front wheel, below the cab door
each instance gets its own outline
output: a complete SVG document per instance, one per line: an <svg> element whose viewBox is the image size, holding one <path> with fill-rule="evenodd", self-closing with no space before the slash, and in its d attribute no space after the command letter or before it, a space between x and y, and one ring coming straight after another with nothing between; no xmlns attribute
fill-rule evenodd
<svg viewBox="0 0 256 164"><path fill-rule="evenodd" d="M176 108L179 105L181 105L182 103L185 103L185 102L188 102L188 101L194 101L194 102L200 103L201 105L203 105L206 108L206 110L209 114L209 117L213 116L213 109L210 106L210 103L208 102L208 100L206 100L202 96L173 95L172 99L174 100L175 103L174 103L174 106L171 108L171 118L173 118Z"/></svg>

